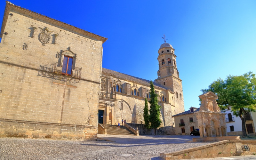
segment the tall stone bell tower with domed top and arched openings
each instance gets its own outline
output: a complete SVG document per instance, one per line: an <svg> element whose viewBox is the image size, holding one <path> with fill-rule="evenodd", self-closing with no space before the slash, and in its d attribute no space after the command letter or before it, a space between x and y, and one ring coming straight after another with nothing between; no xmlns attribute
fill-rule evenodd
<svg viewBox="0 0 256 160"><path fill-rule="evenodd" d="M170 100L172 101L172 106L175 106L175 114L184 112L182 80L179 77L176 55L171 44L161 44L157 60L159 70L157 71L158 78L155 79L155 82L172 91L172 95L169 97L172 99Z"/></svg>

